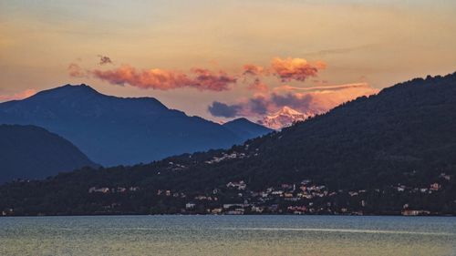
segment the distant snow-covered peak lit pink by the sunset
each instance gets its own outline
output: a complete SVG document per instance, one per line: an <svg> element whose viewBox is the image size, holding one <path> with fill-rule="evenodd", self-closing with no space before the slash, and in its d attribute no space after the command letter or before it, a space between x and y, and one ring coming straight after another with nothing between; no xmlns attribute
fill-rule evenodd
<svg viewBox="0 0 456 256"><path fill-rule="evenodd" d="M267 128L280 129L293 125L295 122L304 121L313 117L312 113L301 113L293 108L284 107L272 115L265 116L258 124Z"/></svg>

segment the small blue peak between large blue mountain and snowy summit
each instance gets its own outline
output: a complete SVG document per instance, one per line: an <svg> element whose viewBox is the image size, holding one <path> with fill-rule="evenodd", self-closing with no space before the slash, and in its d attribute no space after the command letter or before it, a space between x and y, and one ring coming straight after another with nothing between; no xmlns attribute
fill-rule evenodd
<svg viewBox="0 0 456 256"><path fill-rule="evenodd" d="M224 128L228 128L235 135L244 140L256 138L270 133L273 129L265 128L259 124L249 121L247 118L237 118L223 124Z"/></svg>

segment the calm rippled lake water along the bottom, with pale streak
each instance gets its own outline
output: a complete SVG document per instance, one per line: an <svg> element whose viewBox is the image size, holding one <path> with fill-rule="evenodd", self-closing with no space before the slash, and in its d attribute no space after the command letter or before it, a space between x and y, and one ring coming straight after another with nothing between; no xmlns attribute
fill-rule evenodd
<svg viewBox="0 0 456 256"><path fill-rule="evenodd" d="M456 255L456 218L0 218L0 255Z"/></svg>

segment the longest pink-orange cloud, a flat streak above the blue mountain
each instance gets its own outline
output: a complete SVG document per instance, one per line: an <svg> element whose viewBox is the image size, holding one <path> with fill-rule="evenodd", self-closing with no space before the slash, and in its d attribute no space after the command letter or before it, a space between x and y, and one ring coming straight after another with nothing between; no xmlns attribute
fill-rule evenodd
<svg viewBox="0 0 456 256"><path fill-rule="evenodd" d="M124 65L111 70L94 69L90 71L97 77L112 85L130 85L132 87L169 90L180 87L194 87L199 90L223 91L236 83L235 77L230 77L223 71L214 73L208 69L194 68L190 75L185 73L153 68L138 70Z"/></svg>

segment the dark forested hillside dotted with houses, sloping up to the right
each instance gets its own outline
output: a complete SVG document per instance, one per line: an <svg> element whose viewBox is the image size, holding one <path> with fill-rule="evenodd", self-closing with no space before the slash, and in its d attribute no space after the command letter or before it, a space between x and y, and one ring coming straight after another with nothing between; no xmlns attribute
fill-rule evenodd
<svg viewBox="0 0 456 256"><path fill-rule="evenodd" d="M456 73L416 78L227 150L0 186L0 210L456 215L455 130Z"/></svg>

